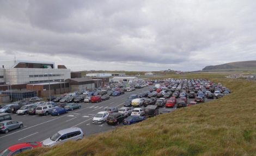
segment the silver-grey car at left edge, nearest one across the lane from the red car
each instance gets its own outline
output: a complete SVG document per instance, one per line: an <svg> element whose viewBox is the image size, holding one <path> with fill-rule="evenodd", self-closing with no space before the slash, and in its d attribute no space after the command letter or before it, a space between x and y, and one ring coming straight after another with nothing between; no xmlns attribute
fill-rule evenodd
<svg viewBox="0 0 256 156"><path fill-rule="evenodd" d="M15 120L5 120L0 122L0 132L8 133L10 130L22 128L23 123Z"/></svg>

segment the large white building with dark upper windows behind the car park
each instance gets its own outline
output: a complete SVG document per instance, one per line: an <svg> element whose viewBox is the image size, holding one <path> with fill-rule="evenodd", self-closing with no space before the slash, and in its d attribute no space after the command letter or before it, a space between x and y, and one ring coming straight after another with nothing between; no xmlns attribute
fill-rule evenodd
<svg viewBox="0 0 256 156"><path fill-rule="evenodd" d="M70 78L70 69L55 68L54 63L36 61L0 61L0 84L59 82Z"/></svg>

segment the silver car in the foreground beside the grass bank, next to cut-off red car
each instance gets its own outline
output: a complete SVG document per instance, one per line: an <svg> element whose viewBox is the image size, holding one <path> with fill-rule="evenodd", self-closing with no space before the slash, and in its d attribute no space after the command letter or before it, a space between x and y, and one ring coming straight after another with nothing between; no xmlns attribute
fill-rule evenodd
<svg viewBox="0 0 256 156"><path fill-rule="evenodd" d="M42 146L52 147L59 143L63 143L69 140L81 140L83 139L83 131L81 128L72 127L60 130L59 132L53 134L50 138L42 141Z"/></svg>

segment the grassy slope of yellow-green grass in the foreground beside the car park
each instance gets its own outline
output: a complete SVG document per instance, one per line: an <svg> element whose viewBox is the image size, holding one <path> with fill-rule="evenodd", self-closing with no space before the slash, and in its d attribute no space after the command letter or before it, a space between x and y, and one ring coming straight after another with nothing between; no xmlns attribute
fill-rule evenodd
<svg viewBox="0 0 256 156"><path fill-rule="evenodd" d="M232 93L78 142L21 155L255 155L256 83L224 79L221 74L182 77L209 78Z"/></svg>

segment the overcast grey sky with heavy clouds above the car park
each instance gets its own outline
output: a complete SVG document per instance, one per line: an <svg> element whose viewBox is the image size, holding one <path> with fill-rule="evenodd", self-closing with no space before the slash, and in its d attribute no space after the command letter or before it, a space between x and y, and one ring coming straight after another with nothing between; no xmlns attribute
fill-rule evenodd
<svg viewBox="0 0 256 156"><path fill-rule="evenodd" d="M256 1L0 0L0 61L72 71L201 70L256 60Z"/></svg>

